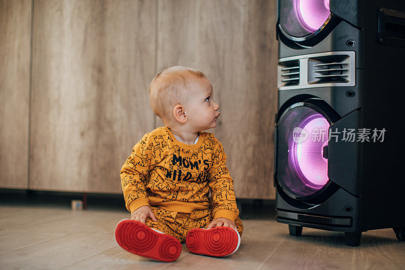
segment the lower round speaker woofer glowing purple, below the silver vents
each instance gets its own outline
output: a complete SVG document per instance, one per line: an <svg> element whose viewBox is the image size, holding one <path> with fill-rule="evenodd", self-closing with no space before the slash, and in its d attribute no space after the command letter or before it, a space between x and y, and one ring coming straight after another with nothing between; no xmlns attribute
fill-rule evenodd
<svg viewBox="0 0 405 270"><path fill-rule="evenodd" d="M327 186L330 121L316 106L296 103L277 124L277 176L287 195L312 199Z"/></svg>

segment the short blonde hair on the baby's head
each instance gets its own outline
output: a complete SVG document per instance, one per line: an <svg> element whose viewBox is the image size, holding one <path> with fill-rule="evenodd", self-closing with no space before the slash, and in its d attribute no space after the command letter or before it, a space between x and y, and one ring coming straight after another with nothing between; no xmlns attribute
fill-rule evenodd
<svg viewBox="0 0 405 270"><path fill-rule="evenodd" d="M198 69L172 66L157 73L149 85L149 99L153 112L162 120L169 119L174 106L187 101L190 79L207 79Z"/></svg>

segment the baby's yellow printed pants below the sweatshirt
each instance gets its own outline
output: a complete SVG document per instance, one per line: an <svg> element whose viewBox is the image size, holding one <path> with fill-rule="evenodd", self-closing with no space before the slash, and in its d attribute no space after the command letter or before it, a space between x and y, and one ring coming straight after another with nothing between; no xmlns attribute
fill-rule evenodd
<svg viewBox="0 0 405 270"><path fill-rule="evenodd" d="M145 224L148 227L160 230L160 232L174 236L181 243L186 241L186 236L190 229L205 228L214 218L211 209L195 210L191 213L179 213L153 206L151 208L157 222L147 217ZM244 226L239 217L235 220L235 224L239 235L242 236Z"/></svg>

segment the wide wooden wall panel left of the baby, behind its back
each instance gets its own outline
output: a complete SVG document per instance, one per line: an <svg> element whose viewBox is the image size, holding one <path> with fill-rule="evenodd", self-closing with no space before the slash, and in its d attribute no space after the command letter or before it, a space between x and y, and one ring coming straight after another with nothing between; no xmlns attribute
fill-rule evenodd
<svg viewBox="0 0 405 270"><path fill-rule="evenodd" d="M32 189L120 193L153 128L155 1L34 2Z"/></svg>

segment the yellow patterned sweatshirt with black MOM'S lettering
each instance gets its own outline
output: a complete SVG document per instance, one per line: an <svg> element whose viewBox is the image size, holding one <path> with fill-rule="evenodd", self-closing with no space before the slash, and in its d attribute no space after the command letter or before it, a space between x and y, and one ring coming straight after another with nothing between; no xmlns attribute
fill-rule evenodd
<svg viewBox="0 0 405 270"><path fill-rule="evenodd" d="M224 148L211 133L199 132L197 143L188 145L169 128L157 128L134 146L120 175L131 213L144 205L182 213L207 209L211 191L214 218L238 216Z"/></svg>

